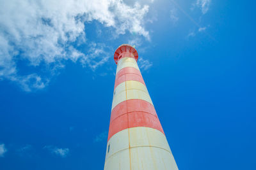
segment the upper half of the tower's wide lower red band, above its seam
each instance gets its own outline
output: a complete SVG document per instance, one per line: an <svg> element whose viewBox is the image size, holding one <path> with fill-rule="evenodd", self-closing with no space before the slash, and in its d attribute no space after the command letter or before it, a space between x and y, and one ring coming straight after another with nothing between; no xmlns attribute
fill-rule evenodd
<svg viewBox="0 0 256 170"><path fill-rule="evenodd" d="M111 112L110 123L113 122L113 120L115 120L117 117L134 111L150 113L157 117L156 110L152 104L141 99L131 99L123 101L122 103L117 104L115 108L113 108Z"/></svg>

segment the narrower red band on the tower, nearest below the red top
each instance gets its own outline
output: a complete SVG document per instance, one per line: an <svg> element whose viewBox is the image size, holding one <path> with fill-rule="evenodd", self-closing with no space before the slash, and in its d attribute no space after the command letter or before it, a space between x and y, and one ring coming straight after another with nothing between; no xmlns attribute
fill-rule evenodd
<svg viewBox="0 0 256 170"><path fill-rule="evenodd" d="M120 85L120 83L123 83L124 81L139 81L145 85L145 82L141 76L141 73L138 69L134 67L124 67L118 73L116 74L116 80L115 80L115 87L114 90L116 89L116 86Z"/></svg>

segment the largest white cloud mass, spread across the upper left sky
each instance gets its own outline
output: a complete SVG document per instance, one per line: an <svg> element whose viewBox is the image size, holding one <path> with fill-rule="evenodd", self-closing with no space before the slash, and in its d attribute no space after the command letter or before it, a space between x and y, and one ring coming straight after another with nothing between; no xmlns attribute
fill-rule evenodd
<svg viewBox="0 0 256 170"><path fill-rule="evenodd" d="M148 9L148 5L127 5L122 0L1 1L0 80L16 81L31 91L43 89L49 77L36 71L22 74L24 66L36 69L44 65L55 71L64 67L65 60L81 59L83 65L95 69L108 57L99 59L90 50L88 54L77 50L75 42L87 43L84 22L97 20L104 27L113 28L117 35L131 32L150 39L143 22ZM99 49L102 50L100 46ZM19 61L25 63L23 67Z"/></svg>

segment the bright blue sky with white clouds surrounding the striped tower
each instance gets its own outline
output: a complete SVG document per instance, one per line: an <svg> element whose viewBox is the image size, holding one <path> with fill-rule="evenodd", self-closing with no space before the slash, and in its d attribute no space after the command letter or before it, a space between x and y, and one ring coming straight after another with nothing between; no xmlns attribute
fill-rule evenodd
<svg viewBox="0 0 256 170"><path fill-rule="evenodd" d="M254 7L1 1L0 169L103 169L122 43L179 169L256 169Z"/></svg>

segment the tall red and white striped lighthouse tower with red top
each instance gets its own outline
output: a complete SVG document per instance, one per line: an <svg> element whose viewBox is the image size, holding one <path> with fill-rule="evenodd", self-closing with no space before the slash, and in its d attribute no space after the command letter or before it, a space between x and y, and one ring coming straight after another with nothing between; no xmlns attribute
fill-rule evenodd
<svg viewBox="0 0 256 170"><path fill-rule="evenodd" d="M114 55L115 89L104 170L178 169L130 45Z"/></svg>

